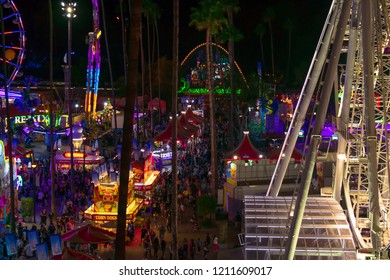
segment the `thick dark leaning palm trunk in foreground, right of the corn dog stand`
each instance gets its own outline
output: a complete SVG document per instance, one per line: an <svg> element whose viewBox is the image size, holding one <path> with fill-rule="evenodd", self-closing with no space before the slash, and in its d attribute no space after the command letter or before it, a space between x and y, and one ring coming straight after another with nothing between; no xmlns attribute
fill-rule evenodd
<svg viewBox="0 0 390 280"><path fill-rule="evenodd" d="M128 199L129 169L131 161L133 130L132 123L134 118L134 103L137 93L137 69L139 58L140 43L140 21L141 21L141 0L129 0L132 13L130 19L130 32L128 44L128 86L127 98L124 108L124 118L128 121L123 124L123 144L121 151L120 178L119 178L119 201L118 201L118 220L115 259L123 260L126 258L126 208Z"/></svg>

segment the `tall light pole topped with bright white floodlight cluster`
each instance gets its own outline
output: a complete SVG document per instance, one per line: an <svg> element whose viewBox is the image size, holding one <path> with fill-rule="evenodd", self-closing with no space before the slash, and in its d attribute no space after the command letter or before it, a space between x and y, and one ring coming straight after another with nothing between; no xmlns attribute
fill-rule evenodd
<svg viewBox="0 0 390 280"><path fill-rule="evenodd" d="M74 171L74 159L73 159L73 120L72 120L72 105L71 105L71 52L72 52L72 19L76 17L76 2L67 3L61 2L62 11L64 11L63 16L68 19L68 51L66 54L66 60L64 70L65 70L65 97L68 99L68 124L70 127L70 189L73 190L73 171Z"/></svg>

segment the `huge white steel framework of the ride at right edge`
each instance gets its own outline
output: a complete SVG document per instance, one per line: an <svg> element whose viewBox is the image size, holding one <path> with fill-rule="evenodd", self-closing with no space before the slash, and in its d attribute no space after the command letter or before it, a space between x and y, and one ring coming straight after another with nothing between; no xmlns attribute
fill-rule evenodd
<svg viewBox="0 0 390 280"><path fill-rule="evenodd" d="M344 205L358 252L380 259L388 248L389 11L388 0L332 2L267 192L267 196L278 196L299 131L309 118L309 140L303 147L299 190L291 198L290 213L294 214L287 220L284 258L294 258L302 237L305 207L319 162L333 165L327 199ZM333 102L338 137L333 155L320 148L332 91L341 95ZM314 104L312 111L310 104Z"/></svg>

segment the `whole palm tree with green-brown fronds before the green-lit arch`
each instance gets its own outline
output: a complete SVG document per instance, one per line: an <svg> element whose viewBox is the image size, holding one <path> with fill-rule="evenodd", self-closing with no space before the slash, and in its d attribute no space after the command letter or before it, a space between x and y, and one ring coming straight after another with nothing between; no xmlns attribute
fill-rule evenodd
<svg viewBox="0 0 390 280"><path fill-rule="evenodd" d="M198 8L191 9L190 26L193 25L197 30L206 31L207 86L210 99L211 194L216 197L218 189L218 156L215 128L215 95L211 75L211 37L216 35L224 26L227 25L227 20L224 17L221 3L214 0L201 0Z"/></svg>

